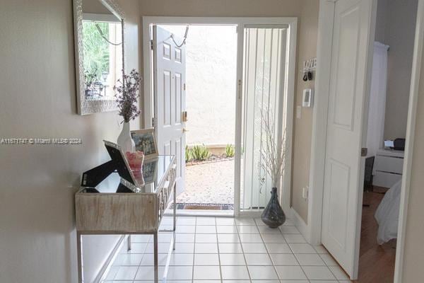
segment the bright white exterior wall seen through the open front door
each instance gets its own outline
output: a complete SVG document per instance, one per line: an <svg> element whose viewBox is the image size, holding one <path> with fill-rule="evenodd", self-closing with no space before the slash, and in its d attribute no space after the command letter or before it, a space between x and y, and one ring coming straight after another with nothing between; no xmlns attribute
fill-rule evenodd
<svg viewBox="0 0 424 283"><path fill-rule="evenodd" d="M185 26L167 25L164 28L179 37L185 33ZM186 52L187 144L234 144L235 26L190 26Z"/></svg>

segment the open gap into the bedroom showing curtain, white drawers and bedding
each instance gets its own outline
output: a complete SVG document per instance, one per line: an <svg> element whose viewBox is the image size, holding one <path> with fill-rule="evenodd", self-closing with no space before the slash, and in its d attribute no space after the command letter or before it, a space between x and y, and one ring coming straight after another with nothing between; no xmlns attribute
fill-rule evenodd
<svg viewBox="0 0 424 283"><path fill-rule="evenodd" d="M359 282L393 282L418 0L378 1ZM375 272L379 270L379 272Z"/></svg>

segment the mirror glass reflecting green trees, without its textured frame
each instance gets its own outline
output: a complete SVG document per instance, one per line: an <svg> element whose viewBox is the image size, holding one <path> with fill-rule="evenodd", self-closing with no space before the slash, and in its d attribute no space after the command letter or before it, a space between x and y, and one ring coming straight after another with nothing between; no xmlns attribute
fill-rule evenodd
<svg viewBox="0 0 424 283"><path fill-rule="evenodd" d="M83 74L86 100L114 99L122 78L122 19L100 0L83 0Z"/></svg>

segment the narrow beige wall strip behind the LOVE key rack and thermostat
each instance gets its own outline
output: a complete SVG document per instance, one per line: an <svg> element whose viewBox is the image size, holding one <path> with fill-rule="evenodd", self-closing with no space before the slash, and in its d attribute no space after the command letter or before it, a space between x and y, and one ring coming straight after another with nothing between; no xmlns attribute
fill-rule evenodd
<svg viewBox="0 0 424 283"><path fill-rule="evenodd" d="M314 88L315 81L303 81L300 73L303 61L317 57L317 30L318 30L319 1L305 0L300 16L298 41L298 69L295 107L302 105L304 88ZM302 198L302 187L309 185L311 138L312 138L312 109L302 108L300 119L294 113L294 140L293 140L293 183L292 206L307 222L307 200Z"/></svg>

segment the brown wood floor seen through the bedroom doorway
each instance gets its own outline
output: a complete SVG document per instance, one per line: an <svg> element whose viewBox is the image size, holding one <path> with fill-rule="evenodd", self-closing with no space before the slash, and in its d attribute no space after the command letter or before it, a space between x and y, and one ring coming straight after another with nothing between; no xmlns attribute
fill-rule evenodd
<svg viewBox="0 0 424 283"><path fill-rule="evenodd" d="M377 190L381 191L381 189ZM377 244L377 221L374 214L384 195L379 192L364 192L362 227L360 236L359 276L355 282L393 282L396 240Z"/></svg>

